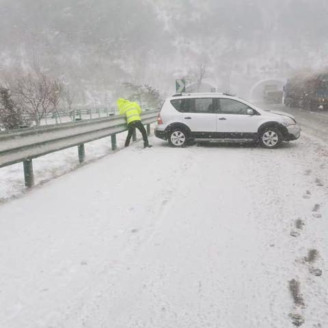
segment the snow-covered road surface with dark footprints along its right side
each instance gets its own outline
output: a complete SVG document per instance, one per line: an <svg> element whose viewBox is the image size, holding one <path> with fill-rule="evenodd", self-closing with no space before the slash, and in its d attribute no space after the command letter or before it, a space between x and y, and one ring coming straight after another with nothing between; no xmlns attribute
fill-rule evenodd
<svg viewBox="0 0 328 328"><path fill-rule="evenodd" d="M152 143L0 206L0 327L325 327L325 140Z"/></svg>

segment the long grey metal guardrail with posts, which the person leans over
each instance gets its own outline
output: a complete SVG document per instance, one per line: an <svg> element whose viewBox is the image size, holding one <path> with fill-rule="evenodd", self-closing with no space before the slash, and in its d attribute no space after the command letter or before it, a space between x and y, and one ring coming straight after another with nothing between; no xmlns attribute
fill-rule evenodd
<svg viewBox="0 0 328 328"><path fill-rule="evenodd" d="M141 113L141 120L150 134L150 124L156 121L159 111ZM78 146L79 161L85 159L84 143L111 136L111 148L116 149L116 134L127 131L122 115L93 120L81 120L33 128L23 128L0 133L0 167L23 161L25 185L32 187L32 159ZM133 135L135 141L136 135Z"/></svg>

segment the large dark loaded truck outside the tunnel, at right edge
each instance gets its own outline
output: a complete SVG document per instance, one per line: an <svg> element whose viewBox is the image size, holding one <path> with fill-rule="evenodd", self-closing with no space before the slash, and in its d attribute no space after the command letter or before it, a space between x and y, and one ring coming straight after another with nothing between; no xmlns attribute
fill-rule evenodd
<svg viewBox="0 0 328 328"><path fill-rule="evenodd" d="M310 111L328 109L328 72L302 73L288 79L284 86L284 104Z"/></svg>

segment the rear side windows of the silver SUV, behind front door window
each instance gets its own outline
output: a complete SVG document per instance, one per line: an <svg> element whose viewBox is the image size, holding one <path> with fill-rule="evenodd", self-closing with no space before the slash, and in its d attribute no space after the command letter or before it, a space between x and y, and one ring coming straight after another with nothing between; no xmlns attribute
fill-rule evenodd
<svg viewBox="0 0 328 328"><path fill-rule="evenodd" d="M180 113L214 113L213 98L187 98L171 100Z"/></svg>

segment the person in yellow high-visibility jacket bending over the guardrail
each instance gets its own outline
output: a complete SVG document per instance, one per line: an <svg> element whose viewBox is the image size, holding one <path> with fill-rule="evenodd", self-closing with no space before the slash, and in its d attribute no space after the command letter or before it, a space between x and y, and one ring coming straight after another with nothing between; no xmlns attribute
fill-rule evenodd
<svg viewBox="0 0 328 328"><path fill-rule="evenodd" d="M131 141L131 137L133 135L133 131L137 128L143 137L143 148L152 147L148 142L146 128L141 123L141 108L137 104L137 102L131 102L129 100L119 98L116 100L116 104L118 105L118 111L120 115L126 115L126 122L128 124L128 136L126 137L125 147L128 147Z"/></svg>

